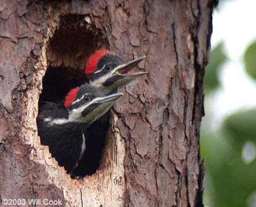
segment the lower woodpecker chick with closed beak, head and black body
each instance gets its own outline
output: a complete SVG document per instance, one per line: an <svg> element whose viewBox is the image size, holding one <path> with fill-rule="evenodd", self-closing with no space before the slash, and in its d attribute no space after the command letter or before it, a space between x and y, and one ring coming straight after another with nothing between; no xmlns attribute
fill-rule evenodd
<svg viewBox="0 0 256 207"><path fill-rule="evenodd" d="M86 128L102 117L120 96L122 93L105 96L101 90L84 84L68 93L65 108L53 102L40 107L36 121L41 143L49 146L53 158L67 173L74 171L84 155Z"/></svg>

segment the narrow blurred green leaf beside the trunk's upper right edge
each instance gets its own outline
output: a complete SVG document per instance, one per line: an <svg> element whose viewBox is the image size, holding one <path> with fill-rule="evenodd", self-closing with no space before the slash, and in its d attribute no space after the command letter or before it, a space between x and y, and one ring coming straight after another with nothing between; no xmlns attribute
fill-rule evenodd
<svg viewBox="0 0 256 207"><path fill-rule="evenodd" d="M210 52L210 61L207 68L205 68L204 89L207 93L220 86L218 74L220 73L221 65L224 64L227 59L228 57L224 51L224 43L220 42Z"/></svg>

